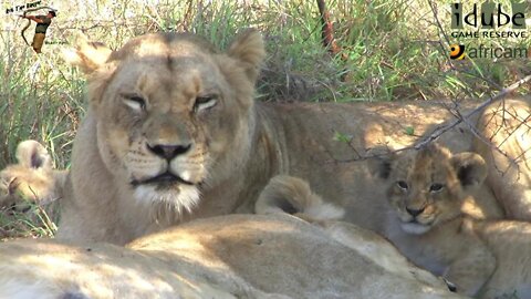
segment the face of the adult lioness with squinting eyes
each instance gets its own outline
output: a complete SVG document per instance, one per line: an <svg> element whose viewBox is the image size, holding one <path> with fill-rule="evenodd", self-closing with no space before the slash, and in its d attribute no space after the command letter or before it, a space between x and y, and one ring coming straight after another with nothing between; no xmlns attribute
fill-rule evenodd
<svg viewBox="0 0 531 299"><path fill-rule="evenodd" d="M90 89L100 154L115 179L140 202L190 210L201 189L247 159L254 84L248 66L181 34L145 35L113 52Z"/></svg>

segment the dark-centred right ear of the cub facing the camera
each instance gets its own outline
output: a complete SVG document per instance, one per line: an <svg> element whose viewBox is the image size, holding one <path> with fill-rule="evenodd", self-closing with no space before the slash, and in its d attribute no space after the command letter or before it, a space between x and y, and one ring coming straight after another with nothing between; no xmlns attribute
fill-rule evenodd
<svg viewBox="0 0 531 299"><path fill-rule="evenodd" d="M483 184L487 177L487 163L480 155L470 152L455 154L451 156L450 163L465 189Z"/></svg>

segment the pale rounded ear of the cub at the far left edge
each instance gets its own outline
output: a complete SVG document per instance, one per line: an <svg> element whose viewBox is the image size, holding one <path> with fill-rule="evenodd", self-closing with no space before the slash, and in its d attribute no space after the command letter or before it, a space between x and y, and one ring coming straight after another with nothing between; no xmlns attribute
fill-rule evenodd
<svg viewBox="0 0 531 299"><path fill-rule="evenodd" d="M23 141L17 146L17 161L25 168L52 169L52 158L46 148L37 141Z"/></svg>

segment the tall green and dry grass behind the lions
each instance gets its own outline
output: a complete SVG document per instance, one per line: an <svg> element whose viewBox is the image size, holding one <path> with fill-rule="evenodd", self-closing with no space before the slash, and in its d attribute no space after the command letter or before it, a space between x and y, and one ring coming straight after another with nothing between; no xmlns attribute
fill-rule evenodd
<svg viewBox="0 0 531 299"><path fill-rule="evenodd" d="M531 72L529 59L449 60L449 42L531 48L529 38L447 41L451 2L327 0L342 48L336 56L322 47L315 1L305 0L55 1L59 14L46 39L69 43L84 32L116 49L138 34L176 30L226 48L239 29L258 28L269 53L259 99L272 102L483 97ZM67 44L45 44L41 55L33 54L20 38L24 22L9 16L0 20L0 167L13 162L17 144L25 138L45 143L56 166L67 167L84 114L84 79L60 58ZM529 91L528 85L518 93Z"/></svg>

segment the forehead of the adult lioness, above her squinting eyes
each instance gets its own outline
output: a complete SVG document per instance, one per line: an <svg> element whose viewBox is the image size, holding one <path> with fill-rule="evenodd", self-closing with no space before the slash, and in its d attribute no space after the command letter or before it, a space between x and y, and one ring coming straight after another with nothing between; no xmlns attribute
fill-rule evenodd
<svg viewBox="0 0 531 299"><path fill-rule="evenodd" d="M195 97L218 93L219 68L215 50L205 40L186 33L148 34L114 52L110 61L122 61L113 85L121 93L142 92L159 99ZM177 93L177 94L175 94Z"/></svg>

